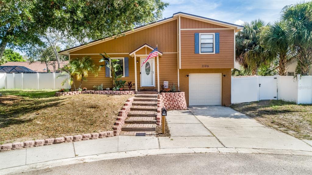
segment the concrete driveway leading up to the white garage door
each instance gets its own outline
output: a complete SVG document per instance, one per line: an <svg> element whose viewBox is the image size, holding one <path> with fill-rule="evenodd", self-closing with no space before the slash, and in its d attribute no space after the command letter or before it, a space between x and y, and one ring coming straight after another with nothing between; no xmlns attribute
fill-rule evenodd
<svg viewBox="0 0 312 175"><path fill-rule="evenodd" d="M220 144L227 148L312 151L312 145L229 107L194 106L185 111L168 111L167 122L172 137L205 136L215 147Z"/></svg>

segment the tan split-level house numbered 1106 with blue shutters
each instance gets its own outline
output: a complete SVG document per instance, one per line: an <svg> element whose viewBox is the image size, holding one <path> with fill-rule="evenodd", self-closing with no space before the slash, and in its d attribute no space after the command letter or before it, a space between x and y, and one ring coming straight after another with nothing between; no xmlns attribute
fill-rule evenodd
<svg viewBox="0 0 312 175"><path fill-rule="evenodd" d="M243 26L183 12L119 37L95 40L59 52L70 59L90 56L97 65L100 53L119 59L122 80L135 83L135 91L157 89L164 81L185 92L187 105L231 104L231 69L235 60L235 33ZM158 57L142 61L158 46ZM89 76L82 87L103 83L112 87L110 71Z"/></svg>

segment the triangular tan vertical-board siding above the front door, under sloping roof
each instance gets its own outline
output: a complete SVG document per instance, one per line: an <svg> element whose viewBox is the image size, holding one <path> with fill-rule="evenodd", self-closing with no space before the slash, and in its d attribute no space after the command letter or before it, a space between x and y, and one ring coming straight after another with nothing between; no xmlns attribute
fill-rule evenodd
<svg viewBox="0 0 312 175"><path fill-rule="evenodd" d="M70 54L129 53L145 43L153 47L158 44L161 52L177 52L177 20L91 45Z"/></svg>

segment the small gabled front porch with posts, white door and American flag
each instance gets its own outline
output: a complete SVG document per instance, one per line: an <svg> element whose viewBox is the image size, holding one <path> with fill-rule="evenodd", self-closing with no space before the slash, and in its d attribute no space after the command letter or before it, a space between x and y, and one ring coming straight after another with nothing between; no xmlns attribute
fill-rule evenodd
<svg viewBox="0 0 312 175"><path fill-rule="evenodd" d="M134 85L135 92L138 89L156 89L160 91L159 82L159 59L163 53L158 50L158 55L150 58L142 65L149 53L155 48L144 44L130 53L134 58ZM131 59L129 59L131 60Z"/></svg>

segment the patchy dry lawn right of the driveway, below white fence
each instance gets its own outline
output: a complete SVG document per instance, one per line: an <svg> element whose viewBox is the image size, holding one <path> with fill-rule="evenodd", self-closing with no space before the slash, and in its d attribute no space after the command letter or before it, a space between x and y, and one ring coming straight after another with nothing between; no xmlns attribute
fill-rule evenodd
<svg viewBox="0 0 312 175"><path fill-rule="evenodd" d="M269 100L235 104L231 107L298 139L312 140L312 105Z"/></svg>

